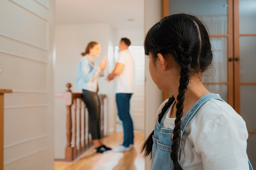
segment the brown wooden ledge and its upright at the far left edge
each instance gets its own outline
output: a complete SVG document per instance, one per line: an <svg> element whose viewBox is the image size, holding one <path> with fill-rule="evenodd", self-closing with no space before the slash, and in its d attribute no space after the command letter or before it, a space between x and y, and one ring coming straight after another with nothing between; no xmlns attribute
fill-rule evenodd
<svg viewBox="0 0 256 170"><path fill-rule="evenodd" d="M4 94L12 89L0 89L0 169L4 169Z"/></svg>

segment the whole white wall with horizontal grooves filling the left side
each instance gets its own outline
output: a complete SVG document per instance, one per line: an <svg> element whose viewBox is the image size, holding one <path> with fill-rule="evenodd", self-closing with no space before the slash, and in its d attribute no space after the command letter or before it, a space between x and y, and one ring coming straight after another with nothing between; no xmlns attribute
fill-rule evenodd
<svg viewBox="0 0 256 170"><path fill-rule="evenodd" d="M0 23L4 169L53 169L54 1L0 1Z"/></svg>

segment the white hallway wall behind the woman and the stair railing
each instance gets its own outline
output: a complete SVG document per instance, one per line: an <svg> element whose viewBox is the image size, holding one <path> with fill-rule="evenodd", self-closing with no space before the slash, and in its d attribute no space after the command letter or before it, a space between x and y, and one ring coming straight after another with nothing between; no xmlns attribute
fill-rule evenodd
<svg viewBox="0 0 256 170"><path fill-rule="evenodd" d="M114 67L113 51L113 30L108 24L82 24L82 25L57 25L56 26L56 64L54 68L55 93L66 91L65 84L72 84L73 92L81 92L75 88L76 65L82 57L90 41L96 41L101 45L101 54L95 58L96 65L99 65L104 56L108 56L109 63L104 72L104 77L99 79L99 93L106 94L107 99L107 133L115 130L115 98L113 83L107 82L106 76L109 70ZM63 99L55 98L55 158L64 158L66 143L65 135L65 106Z"/></svg>

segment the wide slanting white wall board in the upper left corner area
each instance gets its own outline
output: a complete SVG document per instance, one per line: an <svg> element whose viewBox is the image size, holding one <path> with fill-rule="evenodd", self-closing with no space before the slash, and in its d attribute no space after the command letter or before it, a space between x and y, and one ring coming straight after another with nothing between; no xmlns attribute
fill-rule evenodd
<svg viewBox="0 0 256 170"><path fill-rule="evenodd" d="M47 49L47 22L11 1L2 3L0 34Z"/></svg>

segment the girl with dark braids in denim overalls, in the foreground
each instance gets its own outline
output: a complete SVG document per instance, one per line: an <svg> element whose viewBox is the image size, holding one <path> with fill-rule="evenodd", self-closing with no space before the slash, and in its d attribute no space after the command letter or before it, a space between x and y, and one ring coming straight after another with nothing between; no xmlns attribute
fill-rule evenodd
<svg viewBox="0 0 256 170"><path fill-rule="evenodd" d="M201 81L213 58L204 25L187 14L165 17L144 47L152 80L173 93L142 146L151 169L252 169L244 120Z"/></svg>

